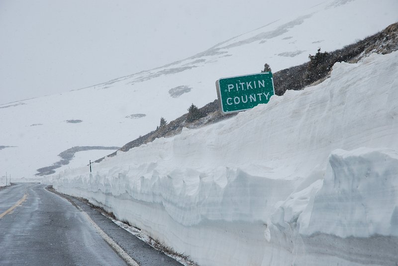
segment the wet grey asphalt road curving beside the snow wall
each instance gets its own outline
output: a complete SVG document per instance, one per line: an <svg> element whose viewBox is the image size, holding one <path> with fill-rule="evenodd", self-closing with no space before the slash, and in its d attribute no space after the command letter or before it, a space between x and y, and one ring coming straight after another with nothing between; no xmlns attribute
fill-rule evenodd
<svg viewBox="0 0 398 266"><path fill-rule="evenodd" d="M19 183L0 190L0 265L126 265L120 252L100 236L94 222L139 266L181 266L118 227L98 209L44 187Z"/></svg>

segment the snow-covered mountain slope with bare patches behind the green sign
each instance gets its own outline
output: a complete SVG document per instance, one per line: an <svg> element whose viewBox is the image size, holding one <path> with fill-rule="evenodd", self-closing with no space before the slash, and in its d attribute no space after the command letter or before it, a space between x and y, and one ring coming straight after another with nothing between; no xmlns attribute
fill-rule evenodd
<svg viewBox="0 0 398 266"><path fill-rule="evenodd" d="M341 48L398 20L396 0L315 2L295 16L280 14L278 20L270 21L267 10L265 26L183 61L86 89L0 105L0 146L7 146L0 150L0 171L29 178L39 168L65 162L58 155L72 147L121 147L154 130L160 117L170 121L191 103L200 107L214 100L218 78L257 73L266 62L274 72L297 65L318 47ZM76 153L73 165L87 165L111 152L93 149Z"/></svg>

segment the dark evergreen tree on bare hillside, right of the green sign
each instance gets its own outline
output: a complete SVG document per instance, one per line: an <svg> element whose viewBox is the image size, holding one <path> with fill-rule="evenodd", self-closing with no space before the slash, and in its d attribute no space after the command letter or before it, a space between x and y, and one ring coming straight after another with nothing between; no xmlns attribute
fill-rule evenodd
<svg viewBox="0 0 398 266"><path fill-rule="evenodd" d="M309 62L304 81L311 84L327 75L331 68L331 55L328 52L320 52L320 48L315 55L309 55Z"/></svg>

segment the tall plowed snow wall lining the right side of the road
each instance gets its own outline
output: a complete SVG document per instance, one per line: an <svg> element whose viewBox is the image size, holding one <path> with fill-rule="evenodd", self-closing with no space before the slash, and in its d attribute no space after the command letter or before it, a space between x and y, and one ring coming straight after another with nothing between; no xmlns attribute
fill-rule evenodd
<svg viewBox="0 0 398 266"><path fill-rule="evenodd" d="M46 183L200 266L396 265L398 52Z"/></svg>

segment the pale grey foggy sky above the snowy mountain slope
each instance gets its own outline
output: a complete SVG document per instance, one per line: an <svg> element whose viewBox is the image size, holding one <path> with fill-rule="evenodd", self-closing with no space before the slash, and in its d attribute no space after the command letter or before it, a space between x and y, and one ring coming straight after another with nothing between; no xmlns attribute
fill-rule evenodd
<svg viewBox="0 0 398 266"><path fill-rule="evenodd" d="M284 1L0 0L0 104L184 59L322 2Z"/></svg>

